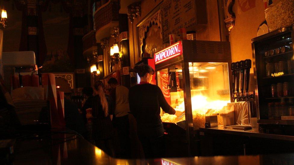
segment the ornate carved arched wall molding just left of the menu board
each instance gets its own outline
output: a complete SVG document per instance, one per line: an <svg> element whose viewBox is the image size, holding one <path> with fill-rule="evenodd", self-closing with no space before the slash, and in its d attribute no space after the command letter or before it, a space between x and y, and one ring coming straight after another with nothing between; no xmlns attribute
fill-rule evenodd
<svg viewBox="0 0 294 165"><path fill-rule="evenodd" d="M152 25L157 25L159 29L161 29L161 22L162 21L162 15L161 10L159 9L156 11L151 17L149 17L146 20L143 20L142 23L139 23L139 26L137 26L137 34L139 34L139 52L140 57L142 57L143 52L143 46L144 46L144 39L146 37L146 34L148 32L148 29Z"/></svg>

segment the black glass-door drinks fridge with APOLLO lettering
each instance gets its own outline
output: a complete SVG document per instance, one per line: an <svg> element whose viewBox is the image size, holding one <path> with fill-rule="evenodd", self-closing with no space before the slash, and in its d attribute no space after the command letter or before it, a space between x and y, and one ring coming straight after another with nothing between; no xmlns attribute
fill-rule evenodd
<svg viewBox="0 0 294 165"><path fill-rule="evenodd" d="M252 39L258 123L294 125L293 27Z"/></svg>

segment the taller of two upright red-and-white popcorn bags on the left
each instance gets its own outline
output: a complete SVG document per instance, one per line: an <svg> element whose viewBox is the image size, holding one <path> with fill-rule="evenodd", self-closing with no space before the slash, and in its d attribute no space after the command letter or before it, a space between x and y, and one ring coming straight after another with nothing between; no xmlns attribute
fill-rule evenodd
<svg viewBox="0 0 294 165"><path fill-rule="evenodd" d="M42 85L44 87L44 99L50 103L50 117L52 128L62 128L63 124L60 121L57 108L57 93L55 76L52 73L42 74Z"/></svg>

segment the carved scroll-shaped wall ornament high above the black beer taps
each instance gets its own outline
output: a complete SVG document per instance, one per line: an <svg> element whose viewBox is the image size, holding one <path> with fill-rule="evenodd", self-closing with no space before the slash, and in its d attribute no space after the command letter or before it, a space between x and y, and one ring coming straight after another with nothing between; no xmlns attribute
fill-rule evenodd
<svg viewBox="0 0 294 165"><path fill-rule="evenodd" d="M225 25L230 34L231 30L235 26L235 13L233 12L233 5L235 0L224 0L224 14L225 14Z"/></svg>

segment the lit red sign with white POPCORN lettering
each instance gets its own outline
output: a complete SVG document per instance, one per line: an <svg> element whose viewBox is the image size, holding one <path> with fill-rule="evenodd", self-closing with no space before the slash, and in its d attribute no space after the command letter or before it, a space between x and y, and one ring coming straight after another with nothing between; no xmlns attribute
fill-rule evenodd
<svg viewBox="0 0 294 165"><path fill-rule="evenodd" d="M176 42L169 47L160 50L154 54L155 64L159 64L166 60L172 59L174 57L180 56L183 54L182 41Z"/></svg>

